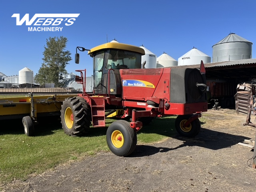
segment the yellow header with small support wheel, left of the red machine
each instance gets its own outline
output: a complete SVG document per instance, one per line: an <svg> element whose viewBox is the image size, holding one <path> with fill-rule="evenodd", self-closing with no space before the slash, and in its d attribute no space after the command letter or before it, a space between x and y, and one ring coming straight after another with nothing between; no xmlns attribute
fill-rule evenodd
<svg viewBox="0 0 256 192"><path fill-rule="evenodd" d="M0 98L0 120L22 118L24 132L28 136L34 134L38 116L60 114L62 102L77 94L54 94L15 96Z"/></svg>

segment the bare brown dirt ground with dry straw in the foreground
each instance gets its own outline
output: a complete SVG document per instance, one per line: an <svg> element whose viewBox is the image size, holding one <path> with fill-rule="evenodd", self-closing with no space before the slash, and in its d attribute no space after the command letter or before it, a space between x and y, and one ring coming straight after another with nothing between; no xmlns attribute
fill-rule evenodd
<svg viewBox="0 0 256 192"><path fill-rule="evenodd" d="M248 166L253 152L238 145L255 139L255 128L243 126L245 120L235 110L209 110L203 113L195 138L177 134L160 143L138 144L129 157L99 153L0 188L3 192L254 191L256 170Z"/></svg>

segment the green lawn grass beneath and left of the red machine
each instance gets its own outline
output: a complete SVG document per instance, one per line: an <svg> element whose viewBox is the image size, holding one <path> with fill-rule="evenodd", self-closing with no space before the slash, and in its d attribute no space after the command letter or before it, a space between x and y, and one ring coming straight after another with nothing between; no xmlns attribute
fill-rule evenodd
<svg viewBox="0 0 256 192"><path fill-rule="evenodd" d="M144 126L138 132L138 144L159 142L176 134L175 118L157 118ZM26 180L29 174L40 174L59 164L109 151L106 130L113 119L107 119L104 128L90 128L82 137L64 134L60 120L46 118L38 121L41 123L35 127L36 136L33 137L24 134L21 120L0 122L0 183Z"/></svg>

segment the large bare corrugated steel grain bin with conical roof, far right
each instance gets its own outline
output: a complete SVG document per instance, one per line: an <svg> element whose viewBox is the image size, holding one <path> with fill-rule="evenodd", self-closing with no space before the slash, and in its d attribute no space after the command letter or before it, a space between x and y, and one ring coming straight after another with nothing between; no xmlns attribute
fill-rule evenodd
<svg viewBox="0 0 256 192"><path fill-rule="evenodd" d="M212 46L212 62L252 58L252 42L230 33Z"/></svg>

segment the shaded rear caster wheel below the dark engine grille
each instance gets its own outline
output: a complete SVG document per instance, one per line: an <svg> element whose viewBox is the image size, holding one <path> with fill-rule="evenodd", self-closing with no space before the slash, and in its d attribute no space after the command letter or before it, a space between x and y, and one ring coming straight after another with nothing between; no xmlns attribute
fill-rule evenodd
<svg viewBox="0 0 256 192"><path fill-rule="evenodd" d="M182 125L186 123L186 121L192 116L192 114L189 115L178 115L178 117L175 120L175 128L177 132L181 136L185 137L194 137L196 136L201 129L201 124L199 119L194 120L191 122L187 127L183 127Z"/></svg>

